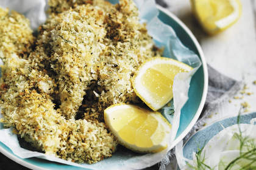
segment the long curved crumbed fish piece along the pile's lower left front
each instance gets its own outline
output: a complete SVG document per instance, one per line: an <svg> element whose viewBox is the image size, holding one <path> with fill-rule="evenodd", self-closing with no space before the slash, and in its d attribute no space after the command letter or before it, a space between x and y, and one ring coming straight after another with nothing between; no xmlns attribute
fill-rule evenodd
<svg viewBox="0 0 256 170"><path fill-rule="evenodd" d="M10 56L2 67L1 122L48 155L95 163L112 156L117 141L104 123L66 120L52 103L54 81L29 60ZM48 91L49 90L49 91Z"/></svg>

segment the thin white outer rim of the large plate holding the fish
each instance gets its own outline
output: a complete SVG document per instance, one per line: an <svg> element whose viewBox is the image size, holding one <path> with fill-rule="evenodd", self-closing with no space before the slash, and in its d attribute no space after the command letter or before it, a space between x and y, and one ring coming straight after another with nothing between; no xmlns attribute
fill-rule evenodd
<svg viewBox="0 0 256 170"><path fill-rule="evenodd" d="M190 29L188 29L188 27L185 24L183 24L183 22L180 21L180 19L177 18L177 16L175 16L174 14L169 12L168 10L164 9L160 5L157 5L157 9L162 11L166 15L168 15L170 18L174 19L174 21L176 21L182 27L182 29L184 29L185 32L188 33L188 35L190 36L190 38L194 42L194 44L196 46L196 49L197 49L197 51L198 51L198 53L201 57L202 68L203 68L203 72L204 72L204 89L203 89L203 93L202 93L201 103L199 104L197 112L194 115L194 118L191 120L190 124L188 124L188 126L182 132L182 134L180 134L179 137L177 137L176 140L174 140L173 143L171 144L171 146L169 147L169 149L171 149L171 148L174 148L174 146L176 146L176 144L179 143L179 141L181 141L185 137L185 135L188 134L188 132L190 132L190 130L192 129L192 127L196 123L197 119L201 115L201 112L202 112L202 109L204 107L204 103L205 103L205 100L206 100L206 96L207 96L207 90L208 90L208 71L207 71L207 64L206 64L206 61L205 61L204 53L202 52L202 49L201 49L201 46L200 46L199 42L197 41L197 39L195 38L193 33L190 31ZM48 170L48 169L42 168L40 166L34 165L32 163L29 163L27 161L24 161L20 157L17 157L16 155L12 154L11 152L5 150L2 147L0 147L0 152L2 154L4 154L6 157L15 161L16 163L25 166L26 168L38 169L38 170Z"/></svg>

